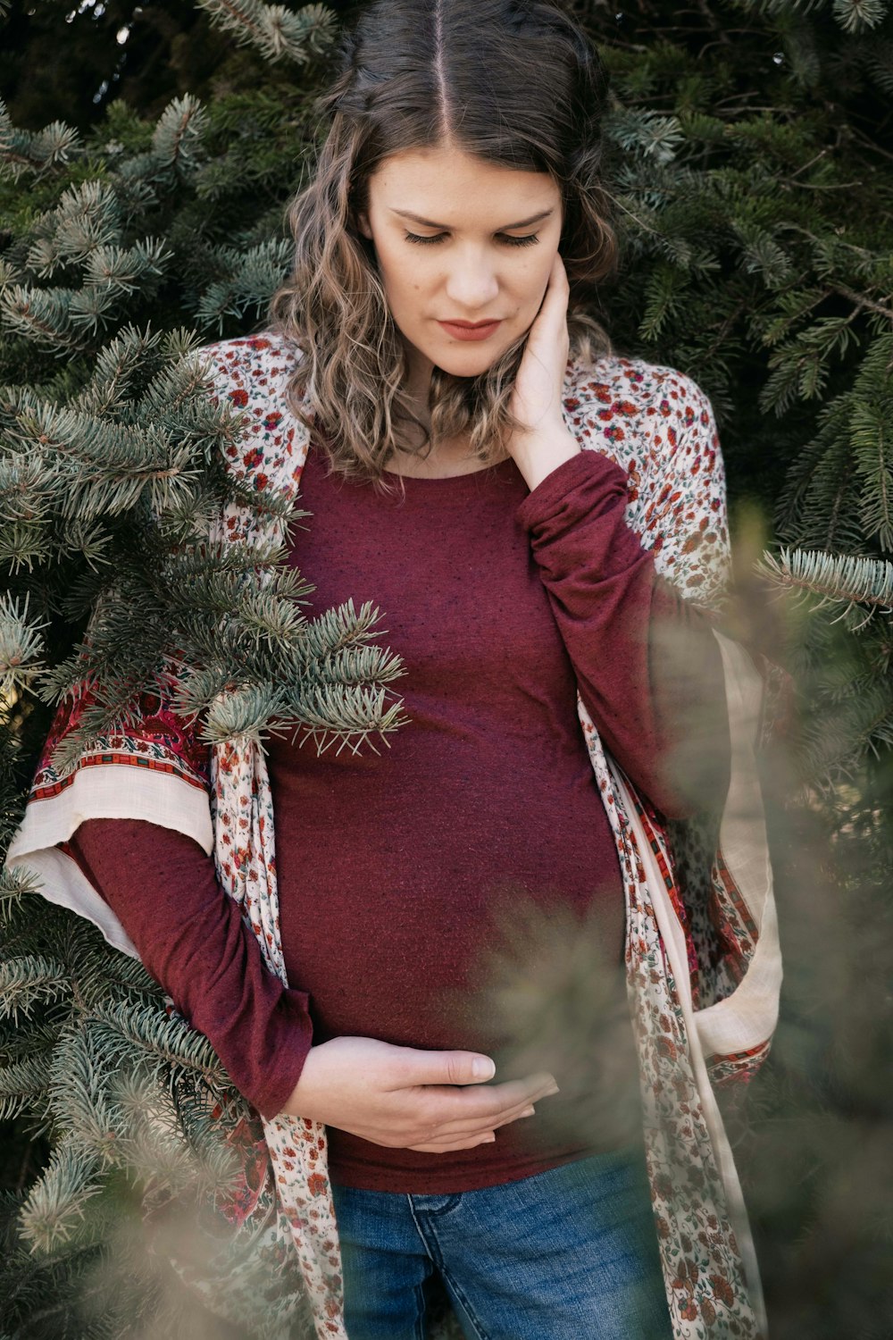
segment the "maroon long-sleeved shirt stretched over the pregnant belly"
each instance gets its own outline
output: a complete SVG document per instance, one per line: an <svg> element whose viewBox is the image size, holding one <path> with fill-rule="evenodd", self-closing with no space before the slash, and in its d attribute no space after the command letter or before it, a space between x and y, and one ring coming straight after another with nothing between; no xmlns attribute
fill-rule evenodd
<svg viewBox="0 0 893 1340"><path fill-rule="evenodd" d="M513 918L540 918L544 958L552 925L578 926L592 972L612 976L605 1008L620 1001L623 886L577 687L606 748L664 813L692 804L673 757L694 729L712 744L702 789L722 796L727 784L719 650L627 527L623 469L581 452L533 492L513 461L404 484L404 500L382 498L327 476L313 449L301 480L301 507L319 523L296 529L291 561L316 584L315 611L348 598L384 611L376 641L406 662L394 687L410 724L378 753L317 756L308 740L269 740L282 950L300 989L264 969L191 839L90 820L71 844L149 972L264 1115L288 1099L311 1038L469 1048L494 1055L497 1080L525 1073L513 1057L526 1038L487 994L489 954ZM684 632L688 667L665 649L655 655L661 620ZM514 962L517 982L536 984L538 958ZM623 1045L632 1057L629 1030ZM594 1059L582 1076L552 1068L562 1095L501 1127L495 1144L426 1154L329 1127L331 1175L449 1193L616 1143L572 1119L616 1073Z"/></svg>

